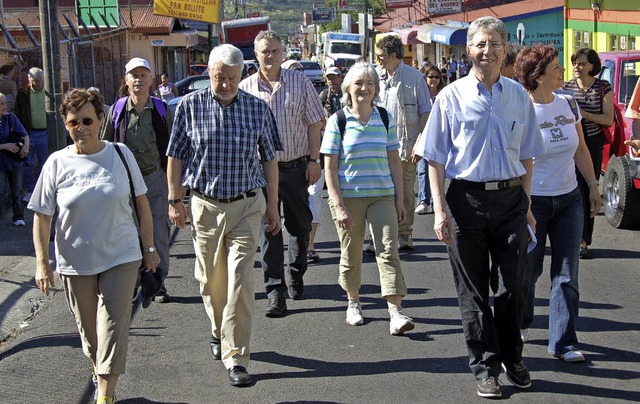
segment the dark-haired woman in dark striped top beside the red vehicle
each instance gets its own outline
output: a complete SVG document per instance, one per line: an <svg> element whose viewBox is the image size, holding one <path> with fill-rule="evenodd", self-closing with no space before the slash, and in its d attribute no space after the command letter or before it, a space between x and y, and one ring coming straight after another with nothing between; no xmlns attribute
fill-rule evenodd
<svg viewBox="0 0 640 404"><path fill-rule="evenodd" d="M574 93L580 107L582 131L593 161L593 171L598 179L602 167L602 146L604 145L604 133L600 126L610 126L613 123L613 91L608 81L595 77L602 68L596 51L589 48L578 49L576 53L571 55L571 63L575 79L566 82L564 89ZM588 246L591 245L593 236L594 218L589 212L589 185L579 172L577 174L585 212L580 258L588 258Z"/></svg>

